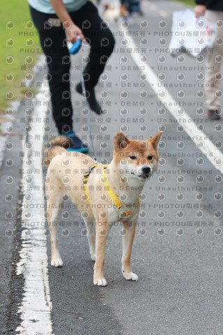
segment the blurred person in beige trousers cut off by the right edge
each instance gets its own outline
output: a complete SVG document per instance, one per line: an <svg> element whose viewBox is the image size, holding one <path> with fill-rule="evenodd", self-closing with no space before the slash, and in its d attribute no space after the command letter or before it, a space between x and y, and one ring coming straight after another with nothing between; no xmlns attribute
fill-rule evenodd
<svg viewBox="0 0 223 335"><path fill-rule="evenodd" d="M217 30L216 39L223 39L223 0L195 0L195 2L197 3L197 6L194 7L195 16L197 18L204 16L204 19L214 22ZM216 61L217 58L220 61ZM206 57L205 91L210 119L220 119L222 114L222 107L217 94L222 82L220 80L220 78L222 79L222 73L220 73L222 60L223 44L215 43Z"/></svg>

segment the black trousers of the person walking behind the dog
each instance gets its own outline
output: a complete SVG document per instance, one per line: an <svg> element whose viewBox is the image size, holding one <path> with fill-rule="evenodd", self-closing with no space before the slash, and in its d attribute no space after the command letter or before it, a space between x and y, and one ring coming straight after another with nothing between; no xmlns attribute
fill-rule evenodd
<svg viewBox="0 0 223 335"><path fill-rule="evenodd" d="M62 24L59 27L51 27L48 23L50 18L58 18L56 14L40 13L31 7L30 10L43 52L47 56L52 114L59 133L62 133L66 129L72 129L70 54L64 43L66 34ZM84 68L85 87L88 91L98 83L107 59L114 49L115 40L112 32L102 23L98 10L91 1L69 14L91 45L89 62Z"/></svg>

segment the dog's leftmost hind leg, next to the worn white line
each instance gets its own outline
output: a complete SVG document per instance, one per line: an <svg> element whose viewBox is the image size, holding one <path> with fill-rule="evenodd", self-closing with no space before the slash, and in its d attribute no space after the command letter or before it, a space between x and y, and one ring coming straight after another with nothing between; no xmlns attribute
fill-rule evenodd
<svg viewBox="0 0 223 335"><path fill-rule="evenodd" d="M61 193L54 195L54 193L47 193L47 223L51 232L51 265L53 267L62 267L63 261L59 253L57 228L59 225L59 216L63 201Z"/></svg>

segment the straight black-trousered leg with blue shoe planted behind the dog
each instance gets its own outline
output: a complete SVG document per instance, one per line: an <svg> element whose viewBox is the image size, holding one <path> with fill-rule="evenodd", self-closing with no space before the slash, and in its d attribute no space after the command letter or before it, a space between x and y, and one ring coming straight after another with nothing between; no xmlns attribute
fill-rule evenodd
<svg viewBox="0 0 223 335"><path fill-rule="evenodd" d="M30 10L33 23L38 29L40 44L47 56L52 115L56 128L59 134L72 137L75 143L71 150L86 152L87 147L72 131L70 54L66 46L65 31L56 14L40 13L31 7Z"/></svg>

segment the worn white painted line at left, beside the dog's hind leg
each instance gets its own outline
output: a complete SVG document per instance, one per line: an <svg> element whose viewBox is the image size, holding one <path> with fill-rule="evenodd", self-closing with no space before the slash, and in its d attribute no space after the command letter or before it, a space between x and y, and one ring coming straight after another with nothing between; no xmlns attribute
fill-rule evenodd
<svg viewBox="0 0 223 335"><path fill-rule="evenodd" d="M42 168L43 105L38 106L38 101L45 100L43 94L43 92L38 94L33 101L36 106L33 121L27 125L26 140L23 143L22 228L24 229L17 275L24 275L24 297L18 311L22 322L16 329L16 333L22 335L52 335Z"/></svg>

